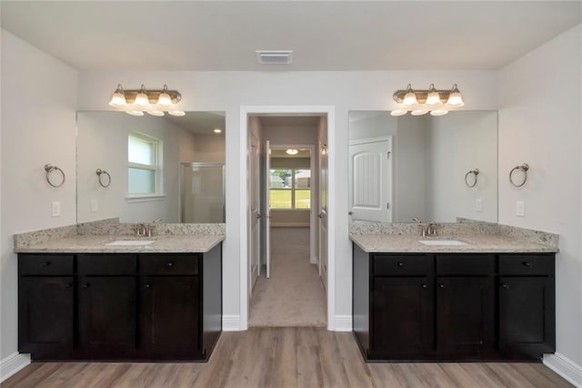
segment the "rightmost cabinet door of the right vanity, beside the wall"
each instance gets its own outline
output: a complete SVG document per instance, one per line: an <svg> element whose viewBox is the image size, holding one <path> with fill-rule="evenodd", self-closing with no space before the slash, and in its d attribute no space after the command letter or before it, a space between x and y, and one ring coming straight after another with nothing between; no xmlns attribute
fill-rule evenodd
<svg viewBox="0 0 582 388"><path fill-rule="evenodd" d="M556 351L554 278L499 278L499 350L509 358L539 360Z"/></svg>

